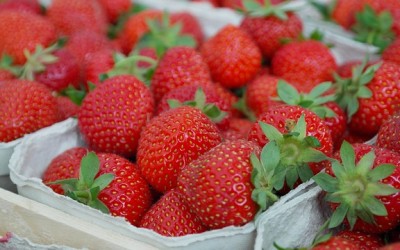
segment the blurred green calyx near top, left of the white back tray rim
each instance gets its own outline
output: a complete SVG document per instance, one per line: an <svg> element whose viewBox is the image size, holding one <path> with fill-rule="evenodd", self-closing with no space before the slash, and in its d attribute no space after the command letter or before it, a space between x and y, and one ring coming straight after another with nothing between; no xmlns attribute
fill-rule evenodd
<svg viewBox="0 0 400 250"><path fill-rule="evenodd" d="M197 43L190 35L182 35L182 22L171 24L170 15L164 12L161 21L146 20L149 32L144 34L135 49L154 48L158 58L165 52L177 46L189 46L195 48Z"/></svg>

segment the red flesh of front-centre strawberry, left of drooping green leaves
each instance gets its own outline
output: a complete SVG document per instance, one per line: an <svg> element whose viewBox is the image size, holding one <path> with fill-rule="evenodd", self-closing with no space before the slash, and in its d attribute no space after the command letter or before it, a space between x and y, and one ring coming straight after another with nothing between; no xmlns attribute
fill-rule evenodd
<svg viewBox="0 0 400 250"><path fill-rule="evenodd" d="M241 226L254 219L250 155L260 148L246 140L225 141L189 163L178 178L187 204L210 229Z"/></svg>

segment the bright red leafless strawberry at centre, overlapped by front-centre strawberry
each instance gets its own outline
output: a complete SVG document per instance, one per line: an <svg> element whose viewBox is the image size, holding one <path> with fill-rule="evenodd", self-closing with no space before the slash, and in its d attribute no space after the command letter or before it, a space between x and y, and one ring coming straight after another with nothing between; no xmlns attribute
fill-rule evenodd
<svg viewBox="0 0 400 250"><path fill-rule="evenodd" d="M191 161L221 142L216 125L199 109L182 106L155 116L144 127L137 164L152 187L165 193Z"/></svg>

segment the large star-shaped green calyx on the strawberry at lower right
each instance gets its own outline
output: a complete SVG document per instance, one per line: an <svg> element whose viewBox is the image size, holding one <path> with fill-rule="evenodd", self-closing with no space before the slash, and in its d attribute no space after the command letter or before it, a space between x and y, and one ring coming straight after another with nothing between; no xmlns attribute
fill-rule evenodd
<svg viewBox="0 0 400 250"><path fill-rule="evenodd" d="M332 160L332 171L335 175L320 172L313 177L314 181L326 192L325 199L339 206L332 214L329 228L342 224L346 218L351 229L357 219L373 224L374 216L385 216L385 205L377 196L392 195L400 190L381 182L390 176L395 166L381 164L373 167L375 153L370 151L358 162L351 144L344 141L340 148L342 163Z"/></svg>

